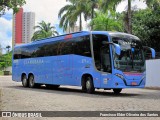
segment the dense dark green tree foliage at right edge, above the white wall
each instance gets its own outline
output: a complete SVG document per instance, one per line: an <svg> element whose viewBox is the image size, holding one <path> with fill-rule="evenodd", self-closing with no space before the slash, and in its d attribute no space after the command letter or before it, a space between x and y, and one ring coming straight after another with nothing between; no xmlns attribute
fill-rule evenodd
<svg viewBox="0 0 160 120"><path fill-rule="evenodd" d="M152 9L136 11L132 22L133 34L160 51L160 6L156 4Z"/></svg>

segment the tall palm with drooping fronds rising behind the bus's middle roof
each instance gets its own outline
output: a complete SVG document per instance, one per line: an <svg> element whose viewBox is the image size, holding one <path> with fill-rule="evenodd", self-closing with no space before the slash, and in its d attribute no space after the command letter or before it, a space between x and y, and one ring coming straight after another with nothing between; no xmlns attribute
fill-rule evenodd
<svg viewBox="0 0 160 120"><path fill-rule="evenodd" d="M66 30L67 27L74 27L79 18L79 31L82 30L82 15L85 21L93 15L91 12L93 3L97 0L67 0L70 4L62 7L59 11L60 27ZM95 5L94 5L95 6Z"/></svg>

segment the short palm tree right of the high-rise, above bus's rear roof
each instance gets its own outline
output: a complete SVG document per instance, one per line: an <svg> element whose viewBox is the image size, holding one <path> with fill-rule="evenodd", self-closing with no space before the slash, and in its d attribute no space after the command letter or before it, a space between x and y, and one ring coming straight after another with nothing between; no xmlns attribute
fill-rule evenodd
<svg viewBox="0 0 160 120"><path fill-rule="evenodd" d="M45 23L44 21L42 21L38 24L39 25L34 27L34 29L37 29L37 31L33 34L32 41L59 35L55 30L55 27L51 26L51 23Z"/></svg>

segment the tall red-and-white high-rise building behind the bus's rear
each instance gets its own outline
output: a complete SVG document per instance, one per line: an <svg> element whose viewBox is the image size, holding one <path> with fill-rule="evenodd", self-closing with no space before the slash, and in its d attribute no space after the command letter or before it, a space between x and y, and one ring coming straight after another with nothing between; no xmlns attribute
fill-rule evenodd
<svg viewBox="0 0 160 120"><path fill-rule="evenodd" d="M13 15L13 42L12 45L18 45L31 42L34 34L35 13L23 12L20 8L19 12Z"/></svg>

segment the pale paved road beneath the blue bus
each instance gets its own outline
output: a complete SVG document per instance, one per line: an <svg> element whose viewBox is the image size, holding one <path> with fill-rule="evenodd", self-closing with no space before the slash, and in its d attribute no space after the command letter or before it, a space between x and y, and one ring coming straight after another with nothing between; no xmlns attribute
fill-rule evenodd
<svg viewBox="0 0 160 120"><path fill-rule="evenodd" d="M46 89L45 87L32 88L32 89L24 88L21 85L21 83L12 81L11 76L9 77L1 76L0 110L1 111L160 111L160 90L123 89L121 94L119 95L115 95L112 91L109 90L96 90L95 94L87 94L83 93L80 87L70 87L70 86L61 86L57 90ZM3 118L3 120L6 119L7 118ZM37 118L37 120L38 119L39 118ZM63 119L63 118L57 118L57 119ZM84 119L89 119L89 118L84 118ZM106 119L106 118L101 118L101 119ZM116 119L119 120L124 118L116 118ZM148 119L158 120L160 118L156 117Z"/></svg>

